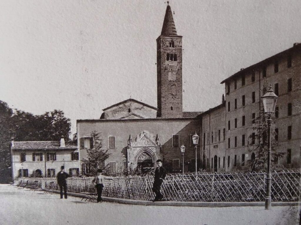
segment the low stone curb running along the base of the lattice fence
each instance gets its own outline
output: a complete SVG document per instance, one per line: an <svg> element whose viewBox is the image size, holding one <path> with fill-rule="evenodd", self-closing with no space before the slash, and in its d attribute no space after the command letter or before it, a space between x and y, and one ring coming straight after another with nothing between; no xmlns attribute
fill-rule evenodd
<svg viewBox="0 0 301 225"><path fill-rule="evenodd" d="M42 189L45 191L44 189ZM54 193L60 193L58 190L52 190ZM86 195L81 193L67 192L70 196L83 198ZM265 206L265 202L152 202L144 200L133 200L133 199L119 199L102 196L102 199L106 202L117 202L123 204L132 205L169 205L169 206L189 206L189 207L239 207L239 206ZM272 202L272 206L298 206L301 202Z"/></svg>

